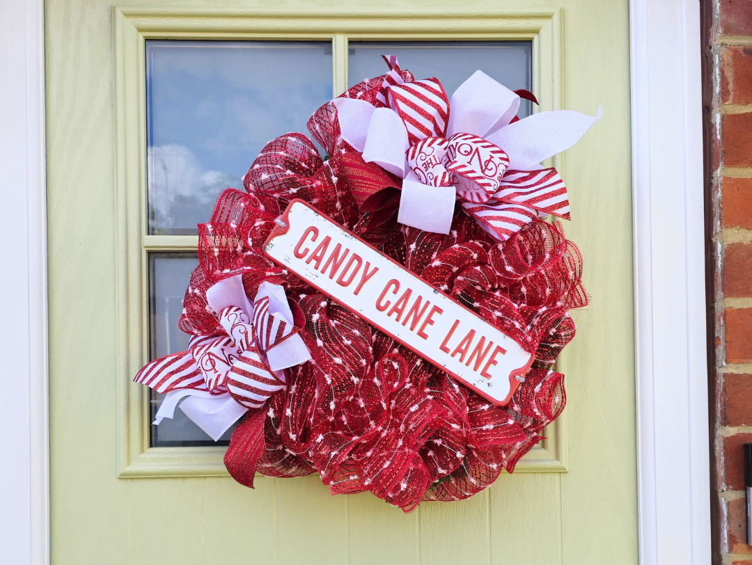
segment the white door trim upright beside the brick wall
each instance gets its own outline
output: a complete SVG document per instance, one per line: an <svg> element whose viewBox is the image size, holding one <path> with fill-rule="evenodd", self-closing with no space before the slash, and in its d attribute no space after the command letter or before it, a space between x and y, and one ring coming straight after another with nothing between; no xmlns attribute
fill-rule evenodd
<svg viewBox="0 0 752 565"><path fill-rule="evenodd" d="M711 562L699 2L630 0L640 563Z"/></svg>

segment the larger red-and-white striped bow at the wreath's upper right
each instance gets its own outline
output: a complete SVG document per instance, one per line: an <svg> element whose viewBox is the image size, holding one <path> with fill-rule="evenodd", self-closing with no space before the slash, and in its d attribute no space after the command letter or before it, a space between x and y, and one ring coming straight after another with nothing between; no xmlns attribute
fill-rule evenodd
<svg viewBox="0 0 752 565"><path fill-rule="evenodd" d="M451 103L436 78L410 80L395 56L376 94L335 98L341 137L366 163L402 178L398 221L449 233L454 206L499 240L538 215L569 219L566 186L544 159L600 118L570 110L517 119L520 95L481 71ZM405 78L407 77L407 78Z"/></svg>

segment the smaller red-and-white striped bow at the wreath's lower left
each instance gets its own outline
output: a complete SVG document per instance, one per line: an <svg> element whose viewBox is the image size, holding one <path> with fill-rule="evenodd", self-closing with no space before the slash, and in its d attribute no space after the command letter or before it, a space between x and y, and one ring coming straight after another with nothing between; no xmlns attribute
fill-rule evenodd
<svg viewBox="0 0 752 565"><path fill-rule="evenodd" d="M188 351L151 361L134 381L166 393L154 424L185 398L180 409L217 441L249 409L263 413L287 386L284 369L311 354L299 335L303 314L281 286L262 282L251 304L235 275L211 286L206 301L223 334L193 336Z"/></svg>

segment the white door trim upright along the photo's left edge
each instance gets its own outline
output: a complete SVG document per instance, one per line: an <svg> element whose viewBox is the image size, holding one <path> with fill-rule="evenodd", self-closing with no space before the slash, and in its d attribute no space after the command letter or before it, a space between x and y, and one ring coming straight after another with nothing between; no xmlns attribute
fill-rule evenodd
<svg viewBox="0 0 752 565"><path fill-rule="evenodd" d="M50 491L42 0L0 2L0 84L0 563L44 565Z"/></svg>

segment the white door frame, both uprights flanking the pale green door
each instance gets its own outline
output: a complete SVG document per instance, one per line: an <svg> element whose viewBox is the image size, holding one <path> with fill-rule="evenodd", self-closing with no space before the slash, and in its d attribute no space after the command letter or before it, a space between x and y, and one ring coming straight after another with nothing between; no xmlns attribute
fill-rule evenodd
<svg viewBox="0 0 752 565"><path fill-rule="evenodd" d="M710 463L699 4L630 0L635 384L640 563L709 563ZM0 171L18 213L0 282L0 561L50 562L44 2L0 5ZM679 104L666 104L679 101ZM15 121L14 121L15 120ZM19 127L12 127L19 125ZM7 249L7 248L6 248ZM20 354L19 354L20 352Z"/></svg>

